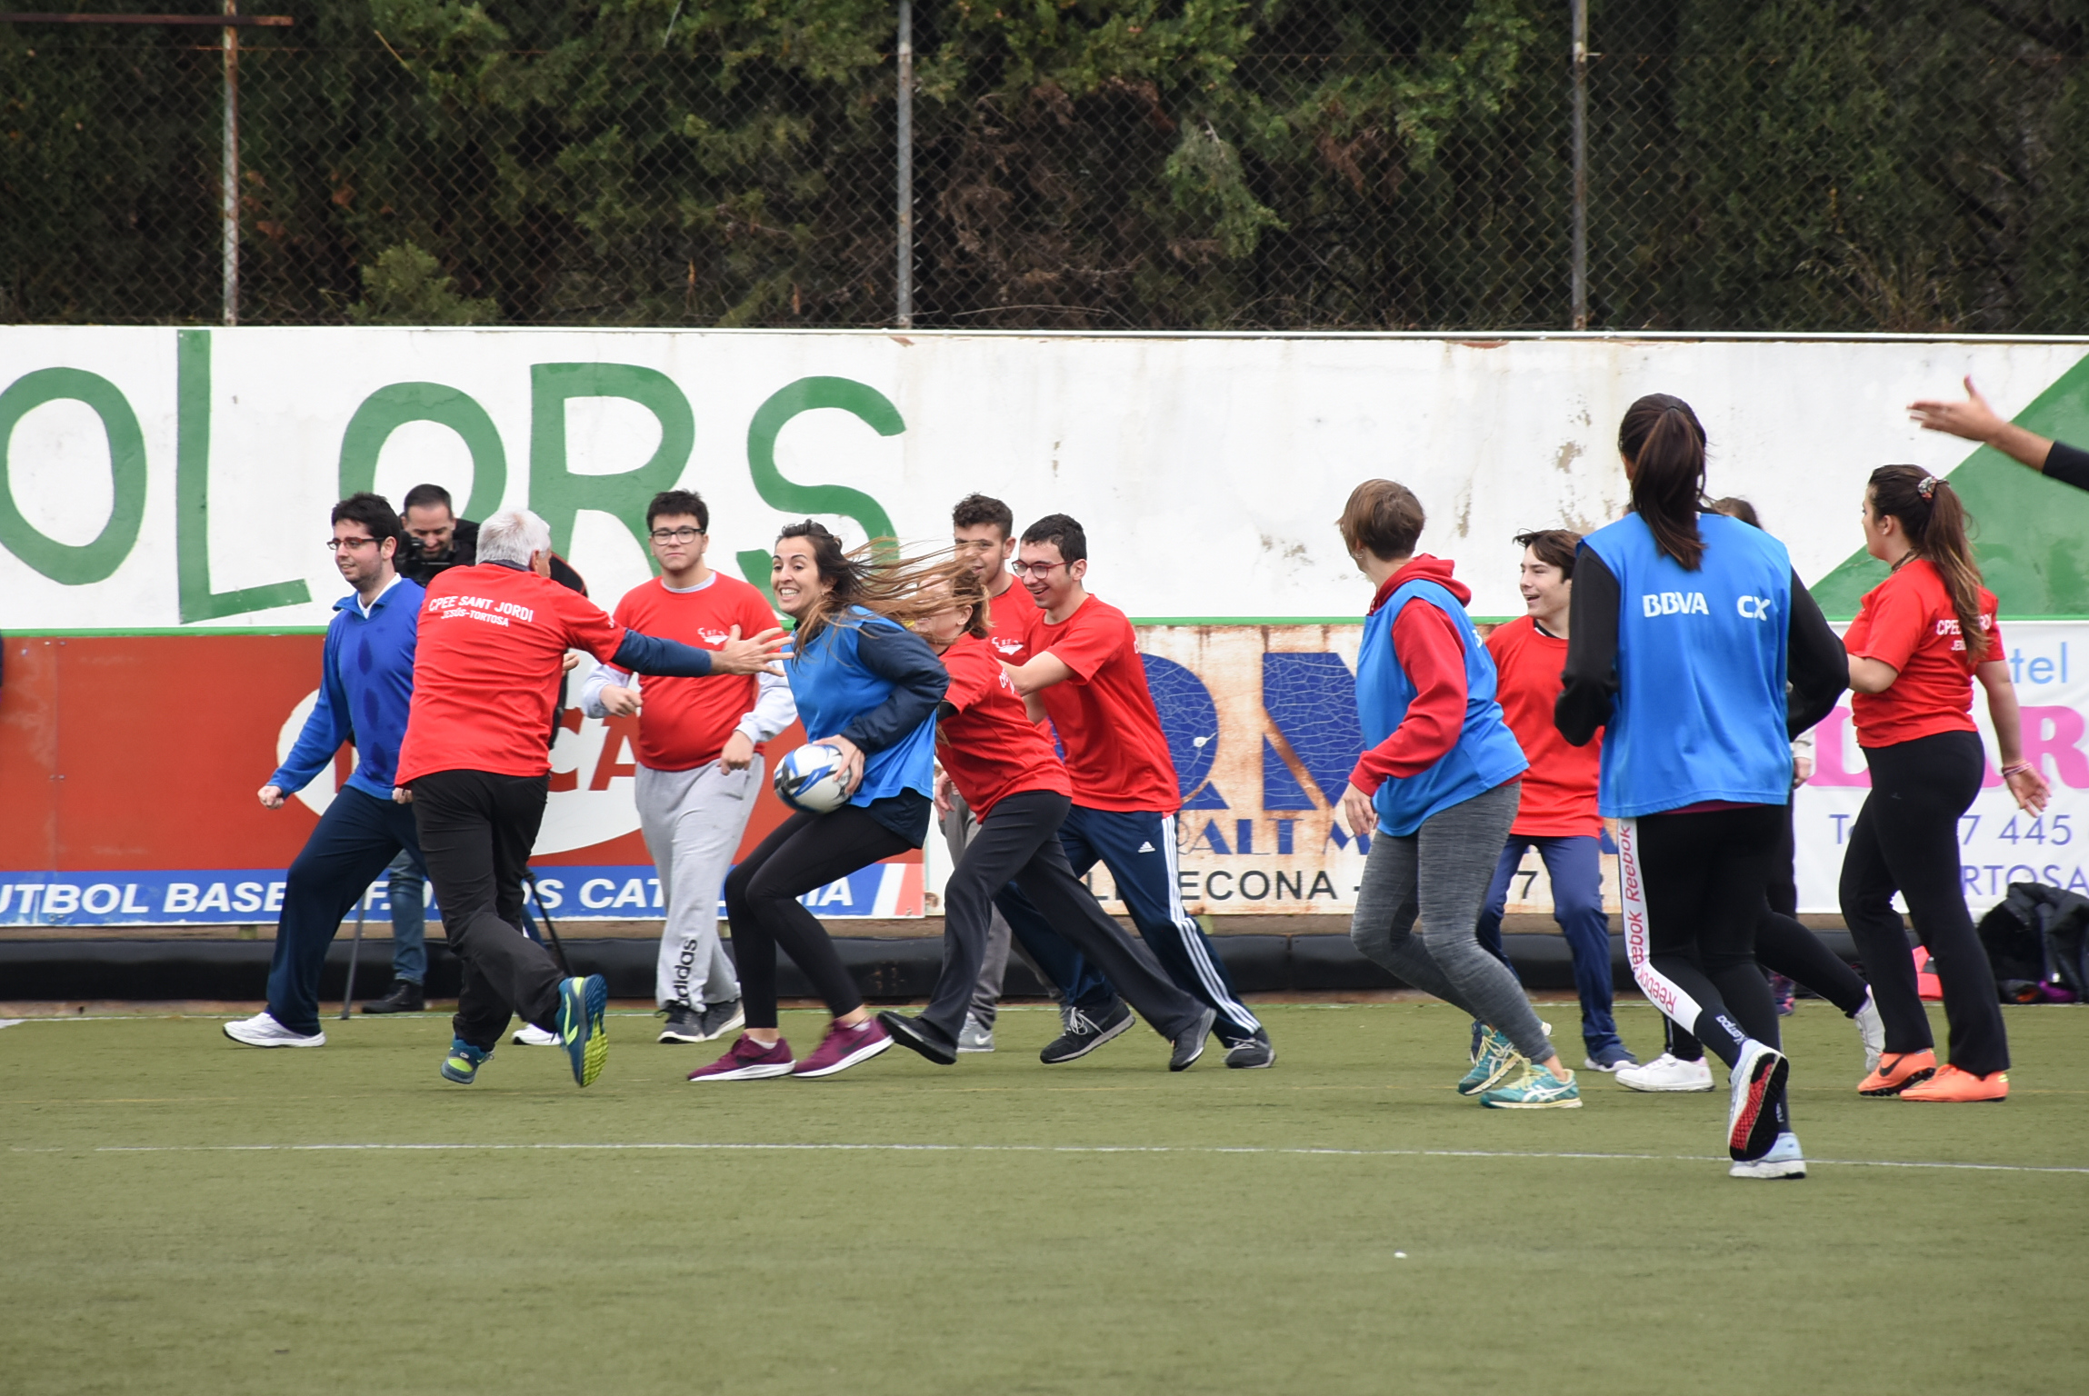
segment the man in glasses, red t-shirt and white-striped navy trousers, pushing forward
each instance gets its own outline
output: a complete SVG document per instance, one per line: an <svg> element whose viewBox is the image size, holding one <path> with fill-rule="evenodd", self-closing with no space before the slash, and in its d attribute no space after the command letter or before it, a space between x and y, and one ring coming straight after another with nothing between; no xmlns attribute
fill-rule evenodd
<svg viewBox="0 0 2089 1396"><path fill-rule="evenodd" d="M1097 863L1109 869L1118 899L1168 978L1216 1009L1214 1030L1226 1045L1226 1066L1274 1064L1268 1030L1241 1003L1226 965L1182 907L1174 828L1182 794L1174 757L1130 619L1082 585L1088 575L1086 531L1065 514L1047 514L1024 529L1022 552L1009 571L1030 591L1036 612L1030 619L1030 654L1022 665L1007 665L1007 673L1017 694L1034 694L1044 704L1065 746L1074 809L1059 825L1059 842L1074 876ZM1049 924L1007 894L996 901L1036 957L1038 932L1049 934ZM1042 1057L1072 1062L1130 1026L1132 1009L1111 995L1099 1011L1070 1011L1065 1037Z"/></svg>

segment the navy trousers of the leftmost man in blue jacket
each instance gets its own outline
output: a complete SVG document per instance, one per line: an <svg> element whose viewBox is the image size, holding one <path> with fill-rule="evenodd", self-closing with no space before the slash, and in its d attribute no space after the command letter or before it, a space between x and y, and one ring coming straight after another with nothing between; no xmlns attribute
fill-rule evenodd
<svg viewBox="0 0 2089 1396"><path fill-rule="evenodd" d="M320 970L343 917L399 851L420 867L414 807L343 786L290 863L267 968L267 1011L292 1032L320 1030Z"/></svg>

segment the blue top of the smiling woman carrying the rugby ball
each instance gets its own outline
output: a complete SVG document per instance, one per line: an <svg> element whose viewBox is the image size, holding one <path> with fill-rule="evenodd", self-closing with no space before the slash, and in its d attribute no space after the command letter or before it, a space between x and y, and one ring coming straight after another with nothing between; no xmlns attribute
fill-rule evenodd
<svg viewBox="0 0 2089 1396"><path fill-rule="evenodd" d="M792 644L783 673L808 740L844 736L863 750L850 805L900 790L934 796L936 704L950 675L919 635L852 606L811 644Z"/></svg>

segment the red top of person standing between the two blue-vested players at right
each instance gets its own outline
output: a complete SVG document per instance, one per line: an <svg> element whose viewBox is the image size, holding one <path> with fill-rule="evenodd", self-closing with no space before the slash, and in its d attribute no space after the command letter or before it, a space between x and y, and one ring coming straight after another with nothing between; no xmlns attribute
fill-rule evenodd
<svg viewBox="0 0 2089 1396"><path fill-rule="evenodd" d="M1577 838L1602 834L1596 813L1596 775L1602 767L1602 738L1569 746L1552 725L1552 704L1560 696L1567 642L1546 635L1529 616L1494 627L1487 654L1498 675L1494 696L1508 729L1531 769L1523 773L1523 802L1510 834L1523 838Z"/></svg>

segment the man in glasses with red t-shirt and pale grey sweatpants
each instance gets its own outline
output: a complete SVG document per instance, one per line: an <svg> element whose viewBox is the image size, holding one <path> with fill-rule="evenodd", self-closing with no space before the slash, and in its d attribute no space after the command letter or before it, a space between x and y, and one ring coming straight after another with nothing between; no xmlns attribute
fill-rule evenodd
<svg viewBox="0 0 2089 1396"><path fill-rule="evenodd" d="M762 594L704 564L710 506L668 489L646 506L660 575L616 602L614 619L648 635L717 650L733 635L775 627ZM654 1001L662 1043L708 1043L746 1022L740 980L719 943L719 886L733 865L762 788L760 744L798 717L781 675L648 679L643 696L625 669L597 665L581 683L589 717L637 713L635 794L646 851L660 869L666 926Z"/></svg>

